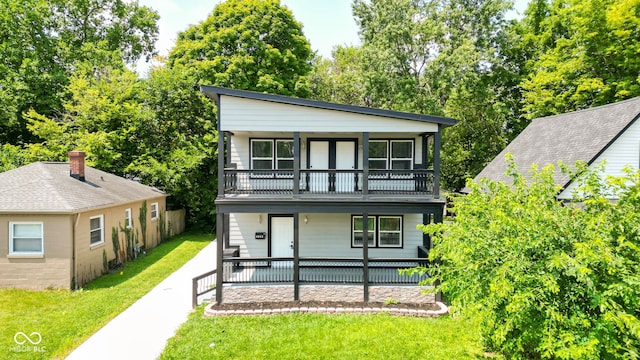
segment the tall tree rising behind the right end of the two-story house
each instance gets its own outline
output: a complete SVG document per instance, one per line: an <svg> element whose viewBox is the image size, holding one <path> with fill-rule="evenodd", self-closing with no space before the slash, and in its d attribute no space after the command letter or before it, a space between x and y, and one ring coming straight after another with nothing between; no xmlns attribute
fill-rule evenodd
<svg viewBox="0 0 640 360"><path fill-rule="evenodd" d="M519 113L493 75L503 66L503 0L356 0L363 39L365 91L370 104L446 115L460 123L445 131L443 187L459 190L505 144Z"/></svg>

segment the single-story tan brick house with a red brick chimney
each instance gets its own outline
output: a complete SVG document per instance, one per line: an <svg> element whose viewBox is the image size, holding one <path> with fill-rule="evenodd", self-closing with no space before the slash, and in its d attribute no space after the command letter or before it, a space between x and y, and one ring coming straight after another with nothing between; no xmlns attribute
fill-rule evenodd
<svg viewBox="0 0 640 360"><path fill-rule="evenodd" d="M101 275L112 228L139 233L144 202L146 246L157 245L167 195L69 157L0 173L0 287L69 289Z"/></svg>

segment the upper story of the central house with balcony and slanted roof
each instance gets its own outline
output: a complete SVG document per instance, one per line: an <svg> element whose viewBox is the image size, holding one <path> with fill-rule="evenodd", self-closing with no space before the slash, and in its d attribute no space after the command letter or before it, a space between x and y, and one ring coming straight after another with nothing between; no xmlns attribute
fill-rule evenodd
<svg viewBox="0 0 640 360"><path fill-rule="evenodd" d="M454 119L213 86L202 91L217 106L221 201L439 197L441 133Z"/></svg>

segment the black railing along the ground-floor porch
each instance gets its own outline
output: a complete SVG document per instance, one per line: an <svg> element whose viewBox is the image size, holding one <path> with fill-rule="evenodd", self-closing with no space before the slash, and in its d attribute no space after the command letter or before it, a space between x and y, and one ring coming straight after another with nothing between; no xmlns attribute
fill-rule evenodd
<svg viewBox="0 0 640 360"><path fill-rule="evenodd" d="M398 269L424 264L426 259L369 259L368 284L417 284L426 276L401 275ZM225 258L225 264L233 264L233 272L225 275L225 283L293 283L293 258ZM225 270L229 266L225 266ZM362 284L364 263L361 258L300 258L300 284Z"/></svg>

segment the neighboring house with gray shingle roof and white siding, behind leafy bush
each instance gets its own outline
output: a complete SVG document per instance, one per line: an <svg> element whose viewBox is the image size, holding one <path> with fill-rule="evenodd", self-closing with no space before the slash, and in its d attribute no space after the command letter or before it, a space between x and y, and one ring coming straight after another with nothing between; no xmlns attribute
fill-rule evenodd
<svg viewBox="0 0 640 360"><path fill-rule="evenodd" d="M529 177L533 164L559 161L574 165L581 160L594 169L605 162L604 175L622 175L622 169L640 165L640 97L617 103L534 119L489 165L476 176L511 182L505 175L505 155L512 153L520 172ZM571 199L577 179L559 170L555 182L562 186L558 199Z"/></svg>

